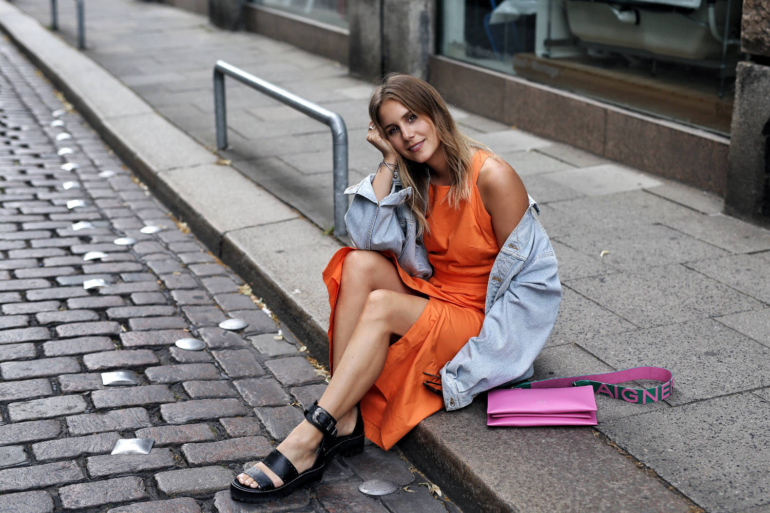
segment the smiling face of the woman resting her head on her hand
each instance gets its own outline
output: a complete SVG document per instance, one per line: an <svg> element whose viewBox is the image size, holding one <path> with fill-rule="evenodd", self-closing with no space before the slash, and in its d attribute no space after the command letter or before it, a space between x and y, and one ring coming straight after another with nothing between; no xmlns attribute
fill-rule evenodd
<svg viewBox="0 0 770 513"><path fill-rule="evenodd" d="M403 158L427 162L440 148L441 142L430 118L418 117L392 98L380 105L379 114L388 142Z"/></svg>

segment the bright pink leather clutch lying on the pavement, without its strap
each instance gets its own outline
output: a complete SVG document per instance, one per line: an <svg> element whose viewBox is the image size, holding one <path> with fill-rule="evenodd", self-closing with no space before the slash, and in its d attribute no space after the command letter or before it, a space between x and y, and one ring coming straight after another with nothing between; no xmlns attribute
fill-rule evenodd
<svg viewBox="0 0 770 513"><path fill-rule="evenodd" d="M487 395L487 425L597 425L590 385L573 388L510 388Z"/></svg>

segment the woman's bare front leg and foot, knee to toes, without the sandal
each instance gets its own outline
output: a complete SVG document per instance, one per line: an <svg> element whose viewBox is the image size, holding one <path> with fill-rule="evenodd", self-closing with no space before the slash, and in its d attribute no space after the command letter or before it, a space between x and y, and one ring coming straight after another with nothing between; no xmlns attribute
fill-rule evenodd
<svg viewBox="0 0 770 513"><path fill-rule="evenodd" d="M385 365L390 335L403 335L420 317L428 300L411 294L378 289L370 292L364 302L353 333L340 358L339 365L318 404L334 418L340 418L367 393L377 381ZM281 442L278 450L302 472L313 465L323 434L308 421L302 421ZM263 463L260 468L273 484L283 481ZM249 475L239 474L241 484L256 488Z"/></svg>

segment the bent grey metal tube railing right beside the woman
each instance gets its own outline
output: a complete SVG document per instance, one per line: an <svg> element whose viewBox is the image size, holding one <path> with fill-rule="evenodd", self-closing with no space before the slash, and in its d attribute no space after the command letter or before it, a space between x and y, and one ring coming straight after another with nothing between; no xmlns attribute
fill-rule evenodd
<svg viewBox="0 0 770 513"><path fill-rule="evenodd" d="M300 98L270 82L266 82L262 78L244 72L240 68L229 65L224 61L217 61L216 65L214 65L214 117L216 121L216 148L220 150L227 148L225 75L229 75L238 82L242 82L271 98L275 98L279 102L285 103L305 115L309 115L316 121L329 125L332 130L333 143L334 235L347 235L345 228L345 212L347 210L345 198L345 189L347 188L347 128L342 116L313 102L308 102L306 99Z"/></svg>

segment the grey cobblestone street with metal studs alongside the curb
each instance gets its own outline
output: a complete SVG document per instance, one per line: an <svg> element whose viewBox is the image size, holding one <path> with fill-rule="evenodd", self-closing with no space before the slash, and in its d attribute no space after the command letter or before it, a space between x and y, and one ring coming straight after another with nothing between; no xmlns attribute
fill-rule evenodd
<svg viewBox="0 0 770 513"><path fill-rule="evenodd" d="M229 481L303 418L324 371L5 39L0 144L0 512L459 511L373 445L310 491L230 501ZM107 285L86 290L92 279ZM226 318L249 325L218 328ZM188 337L208 347L174 345ZM139 384L102 385L119 369ZM109 455L119 438L155 445ZM400 490L367 498L369 478Z"/></svg>

